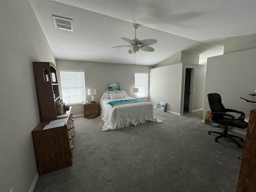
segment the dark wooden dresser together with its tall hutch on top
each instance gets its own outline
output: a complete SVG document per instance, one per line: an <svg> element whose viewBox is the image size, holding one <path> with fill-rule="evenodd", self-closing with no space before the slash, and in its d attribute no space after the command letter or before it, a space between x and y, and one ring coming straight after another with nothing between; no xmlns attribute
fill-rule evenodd
<svg viewBox="0 0 256 192"><path fill-rule="evenodd" d="M54 64L33 62L33 68L42 122L32 130L32 138L39 174L43 175L72 165L75 126L72 107L64 115L56 113L60 94ZM61 120L64 124L44 130L51 120Z"/></svg>

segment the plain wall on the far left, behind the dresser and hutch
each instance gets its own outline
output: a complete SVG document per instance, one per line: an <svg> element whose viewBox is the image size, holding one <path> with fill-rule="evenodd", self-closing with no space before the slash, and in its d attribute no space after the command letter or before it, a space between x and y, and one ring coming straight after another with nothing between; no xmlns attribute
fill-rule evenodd
<svg viewBox="0 0 256 192"><path fill-rule="evenodd" d="M37 174L31 131L40 122L33 61L55 58L28 0L0 6L0 189L28 192Z"/></svg>

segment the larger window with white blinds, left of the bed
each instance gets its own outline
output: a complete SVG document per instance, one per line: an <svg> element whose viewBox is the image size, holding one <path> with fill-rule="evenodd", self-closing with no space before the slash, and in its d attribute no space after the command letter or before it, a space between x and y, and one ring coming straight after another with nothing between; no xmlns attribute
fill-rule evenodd
<svg viewBox="0 0 256 192"><path fill-rule="evenodd" d="M86 101L83 71L60 71L62 100L65 104Z"/></svg>

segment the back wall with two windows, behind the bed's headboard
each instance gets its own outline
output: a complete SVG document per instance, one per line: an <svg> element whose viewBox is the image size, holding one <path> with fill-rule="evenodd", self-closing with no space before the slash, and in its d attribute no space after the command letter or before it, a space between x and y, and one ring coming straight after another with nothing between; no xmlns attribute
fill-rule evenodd
<svg viewBox="0 0 256 192"><path fill-rule="evenodd" d="M95 101L100 103L103 92L108 90L108 83L119 82L121 90L128 95L134 96L134 73L148 73L151 66L111 64L85 61L56 60L58 71L58 82L60 82L60 70L81 70L85 72L86 100L90 102L88 88L96 88ZM60 84L60 83L59 83ZM62 98L61 84L60 95ZM147 98L146 98L147 99ZM74 115L83 114L82 104L72 105Z"/></svg>

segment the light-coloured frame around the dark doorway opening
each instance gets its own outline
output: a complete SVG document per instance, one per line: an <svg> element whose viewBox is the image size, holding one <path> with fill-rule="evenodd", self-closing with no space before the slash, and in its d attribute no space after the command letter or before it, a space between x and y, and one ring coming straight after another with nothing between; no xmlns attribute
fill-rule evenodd
<svg viewBox="0 0 256 192"><path fill-rule="evenodd" d="M193 112L193 97L194 97L194 73L195 67L192 66L184 66L183 72L183 94L182 94L182 115L184 112L184 96L185 96L185 79L186 79L186 68L191 69L191 76L190 76L190 96L189 96L189 105L188 105L188 112Z"/></svg>

